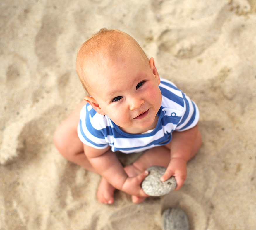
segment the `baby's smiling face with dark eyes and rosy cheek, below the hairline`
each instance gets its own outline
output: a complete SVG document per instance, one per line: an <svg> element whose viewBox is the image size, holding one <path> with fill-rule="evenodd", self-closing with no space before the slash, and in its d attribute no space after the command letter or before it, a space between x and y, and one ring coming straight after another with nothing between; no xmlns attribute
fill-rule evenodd
<svg viewBox="0 0 256 230"><path fill-rule="evenodd" d="M123 58L108 67L104 74L99 74L94 81L96 88L92 97L124 131L140 133L154 128L157 123L156 115L162 95L154 60L150 60L151 64L145 65L136 56Z"/></svg>

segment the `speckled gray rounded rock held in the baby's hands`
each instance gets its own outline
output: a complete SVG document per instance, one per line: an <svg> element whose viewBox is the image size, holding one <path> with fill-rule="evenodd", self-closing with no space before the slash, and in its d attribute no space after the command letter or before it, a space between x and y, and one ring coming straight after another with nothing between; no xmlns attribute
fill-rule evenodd
<svg viewBox="0 0 256 230"><path fill-rule="evenodd" d="M171 177L164 182L160 180L165 170L166 168L162 166L151 166L147 169L149 174L141 184L145 194L149 196L163 196L176 188L177 183L175 177Z"/></svg>

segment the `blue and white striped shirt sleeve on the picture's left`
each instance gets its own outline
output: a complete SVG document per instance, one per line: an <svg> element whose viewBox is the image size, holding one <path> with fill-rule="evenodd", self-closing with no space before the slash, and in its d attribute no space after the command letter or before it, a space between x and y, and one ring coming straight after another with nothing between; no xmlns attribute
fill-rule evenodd
<svg viewBox="0 0 256 230"><path fill-rule="evenodd" d="M81 109L77 127L78 137L84 144L95 149L104 149L109 145L99 126L100 120L102 115L97 114L90 104L86 104Z"/></svg>

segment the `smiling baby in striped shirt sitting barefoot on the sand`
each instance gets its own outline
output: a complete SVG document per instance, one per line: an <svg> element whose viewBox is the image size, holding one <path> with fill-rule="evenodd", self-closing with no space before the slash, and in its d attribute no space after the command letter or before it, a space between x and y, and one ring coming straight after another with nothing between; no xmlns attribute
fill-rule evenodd
<svg viewBox="0 0 256 230"><path fill-rule="evenodd" d="M85 41L76 69L89 96L55 131L54 143L69 161L102 176L98 200L112 204L119 189L142 202L148 195L141 182L153 165L166 167L161 181L174 176L180 189L201 145L196 104L160 79L154 59L116 29L101 29ZM115 151L144 153L123 167Z"/></svg>

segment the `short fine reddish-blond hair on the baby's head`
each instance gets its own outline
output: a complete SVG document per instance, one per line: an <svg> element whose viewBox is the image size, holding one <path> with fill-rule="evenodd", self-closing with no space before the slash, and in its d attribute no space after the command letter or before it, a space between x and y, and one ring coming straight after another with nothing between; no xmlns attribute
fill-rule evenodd
<svg viewBox="0 0 256 230"><path fill-rule="evenodd" d="M113 63L120 57L129 55L129 51L135 51L149 65L149 59L140 45L130 35L117 29L100 29L93 34L78 49L76 58L76 71L83 88L90 94L93 86L89 79L93 78L92 69L101 71L106 69L109 63Z"/></svg>

